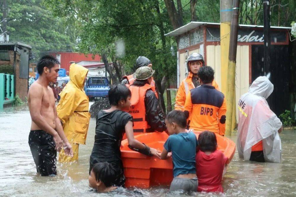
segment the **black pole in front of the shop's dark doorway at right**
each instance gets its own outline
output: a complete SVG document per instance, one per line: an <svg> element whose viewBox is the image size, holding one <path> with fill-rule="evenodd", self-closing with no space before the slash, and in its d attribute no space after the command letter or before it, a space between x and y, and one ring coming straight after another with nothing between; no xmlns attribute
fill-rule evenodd
<svg viewBox="0 0 296 197"><path fill-rule="evenodd" d="M264 33L264 75L270 66L270 4L269 0L263 0L263 33Z"/></svg>

